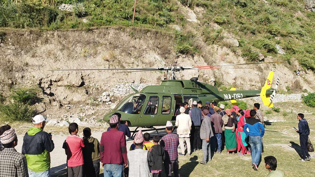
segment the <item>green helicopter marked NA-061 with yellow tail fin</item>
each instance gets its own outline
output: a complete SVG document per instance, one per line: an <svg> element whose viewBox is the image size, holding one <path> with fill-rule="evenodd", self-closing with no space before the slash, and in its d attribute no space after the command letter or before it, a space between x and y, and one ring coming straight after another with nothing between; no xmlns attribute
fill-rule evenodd
<svg viewBox="0 0 315 177"><path fill-rule="evenodd" d="M227 69L222 66L253 65L279 62L261 62L245 64L228 64L215 66L194 66L194 67L164 67L164 68L124 68L124 69L72 69L72 70L50 70L50 71L83 71L83 70L126 70L123 72L139 71L167 71L168 80L162 80L161 85L146 86L141 91L136 90L123 98L113 111L104 116L104 120L109 123L110 118L116 112L122 115L122 120L126 121L131 127L154 128L154 126L165 126L167 121L175 124L176 110L180 103L188 102L191 107L193 101L224 101L231 100L236 104L236 99L260 96L264 105L272 107L272 99L276 94L277 88L271 88L274 72L270 72L264 87L261 90L236 90L231 88L229 91L219 91L217 87L198 82L198 77L190 80L176 79L175 72L191 69ZM244 69L244 68L233 68ZM171 75L169 76L169 73ZM122 72L117 72L122 73ZM279 79L276 87L278 87ZM137 129L136 128L136 129ZM136 130L135 130L136 132Z"/></svg>

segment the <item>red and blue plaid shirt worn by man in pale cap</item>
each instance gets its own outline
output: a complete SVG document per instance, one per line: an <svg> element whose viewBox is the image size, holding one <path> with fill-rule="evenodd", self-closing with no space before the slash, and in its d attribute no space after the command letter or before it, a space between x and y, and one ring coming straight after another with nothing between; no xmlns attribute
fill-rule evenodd
<svg viewBox="0 0 315 177"><path fill-rule="evenodd" d="M161 146L164 147L164 150L167 151L166 155L169 156L170 161L175 161L178 158L177 148L179 145L179 138L176 134L168 133L162 137L161 141L164 143ZM167 157L166 156L166 157Z"/></svg>

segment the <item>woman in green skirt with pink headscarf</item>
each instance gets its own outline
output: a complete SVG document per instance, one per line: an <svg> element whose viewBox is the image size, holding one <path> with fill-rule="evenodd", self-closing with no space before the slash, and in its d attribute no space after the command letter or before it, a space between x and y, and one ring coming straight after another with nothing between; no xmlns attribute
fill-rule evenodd
<svg viewBox="0 0 315 177"><path fill-rule="evenodd" d="M234 133L236 117L232 115L230 109L226 109L225 112L226 115L222 117L224 124L222 130L224 130L226 153L230 154L230 151L232 151L232 154L234 154L237 148L236 134Z"/></svg>

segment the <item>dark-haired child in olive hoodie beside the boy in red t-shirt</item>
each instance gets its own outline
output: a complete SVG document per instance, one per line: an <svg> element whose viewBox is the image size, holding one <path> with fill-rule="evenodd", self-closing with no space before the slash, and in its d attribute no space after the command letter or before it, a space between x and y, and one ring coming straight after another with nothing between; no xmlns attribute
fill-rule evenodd
<svg viewBox="0 0 315 177"><path fill-rule="evenodd" d="M100 142L91 136L91 129L83 129L83 160L86 177L96 177L100 174Z"/></svg>

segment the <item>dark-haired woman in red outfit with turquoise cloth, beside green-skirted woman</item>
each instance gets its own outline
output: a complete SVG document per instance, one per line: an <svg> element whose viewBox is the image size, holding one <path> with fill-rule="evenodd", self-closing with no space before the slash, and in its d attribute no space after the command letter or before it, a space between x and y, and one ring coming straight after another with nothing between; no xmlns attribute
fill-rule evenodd
<svg viewBox="0 0 315 177"><path fill-rule="evenodd" d="M247 146L247 141L246 141L246 134L243 131L243 127L246 123L245 120L245 112L243 110L238 110L237 111L238 117L237 117L237 129L236 129L236 141L237 141L237 151L240 151L237 155L239 156L244 156L246 153L246 146Z"/></svg>

